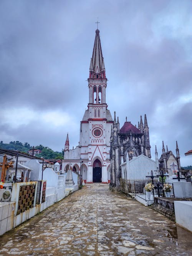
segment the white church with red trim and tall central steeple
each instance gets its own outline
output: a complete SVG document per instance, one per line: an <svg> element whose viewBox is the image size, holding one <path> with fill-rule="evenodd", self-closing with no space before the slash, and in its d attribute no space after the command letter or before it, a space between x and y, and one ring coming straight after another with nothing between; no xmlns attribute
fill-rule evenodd
<svg viewBox="0 0 192 256"><path fill-rule="evenodd" d="M96 30L93 54L89 67L89 103L80 122L79 145L69 149L65 143L62 172L82 168L86 183L110 182L110 136L113 119L106 103L107 78L101 49L99 30Z"/></svg>

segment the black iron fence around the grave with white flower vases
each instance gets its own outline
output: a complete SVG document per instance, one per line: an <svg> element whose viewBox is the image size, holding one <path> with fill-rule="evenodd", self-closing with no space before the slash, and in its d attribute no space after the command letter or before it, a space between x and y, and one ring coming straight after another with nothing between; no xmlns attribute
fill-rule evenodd
<svg viewBox="0 0 192 256"><path fill-rule="evenodd" d="M172 183L153 182L153 189L147 191L145 186L149 181L134 181L134 193L140 198L147 200L154 200L154 197L175 197ZM150 182L151 183L151 182ZM165 188L167 186L167 188Z"/></svg>

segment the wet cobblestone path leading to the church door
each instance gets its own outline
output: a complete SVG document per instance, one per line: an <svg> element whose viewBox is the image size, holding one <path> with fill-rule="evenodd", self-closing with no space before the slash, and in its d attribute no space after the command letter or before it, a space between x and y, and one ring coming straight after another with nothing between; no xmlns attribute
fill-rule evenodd
<svg viewBox="0 0 192 256"><path fill-rule="evenodd" d="M192 255L192 233L101 183L0 237L0 255Z"/></svg>

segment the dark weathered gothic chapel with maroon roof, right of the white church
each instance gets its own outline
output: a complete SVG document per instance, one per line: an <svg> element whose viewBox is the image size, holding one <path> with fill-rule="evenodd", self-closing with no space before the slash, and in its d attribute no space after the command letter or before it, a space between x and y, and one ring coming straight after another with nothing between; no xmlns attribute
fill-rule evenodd
<svg viewBox="0 0 192 256"><path fill-rule="evenodd" d="M141 116L137 127L136 125L132 125L130 121L127 121L126 118L126 122L120 129L119 118L117 118L116 121L116 113L114 113L114 123L113 129L111 129L110 142L110 189L120 190L120 178L122 177L123 163L126 163L127 160L134 160L134 158L137 158L140 155L145 156L146 159L151 158L147 116L144 116L144 125ZM149 162L151 163L152 161L148 161L148 166ZM153 162L154 166L156 166L156 162ZM122 178L127 180L125 176Z"/></svg>

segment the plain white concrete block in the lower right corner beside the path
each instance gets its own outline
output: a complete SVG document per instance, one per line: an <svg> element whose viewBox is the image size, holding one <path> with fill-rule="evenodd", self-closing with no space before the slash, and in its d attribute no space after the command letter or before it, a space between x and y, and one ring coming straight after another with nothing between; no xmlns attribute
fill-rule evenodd
<svg viewBox="0 0 192 256"><path fill-rule="evenodd" d="M192 201L174 201L174 208L176 223L192 232Z"/></svg>

